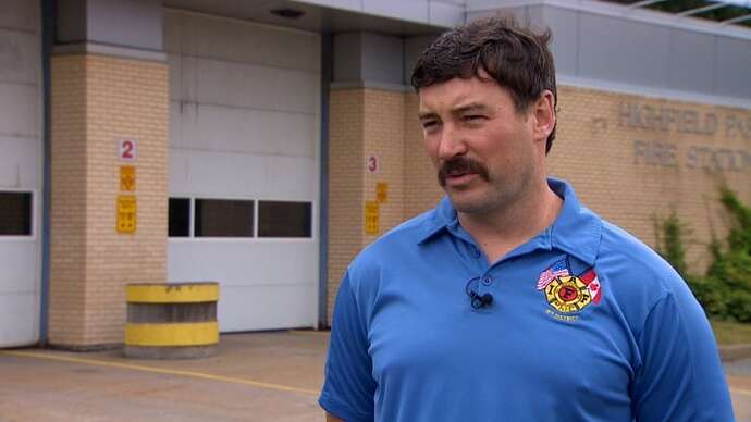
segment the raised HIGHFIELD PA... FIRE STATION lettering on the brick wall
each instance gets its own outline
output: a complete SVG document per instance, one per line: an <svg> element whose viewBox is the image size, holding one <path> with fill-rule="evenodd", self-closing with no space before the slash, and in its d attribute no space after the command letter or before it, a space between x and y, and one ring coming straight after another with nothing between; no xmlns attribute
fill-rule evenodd
<svg viewBox="0 0 751 422"><path fill-rule="evenodd" d="M594 123L595 128L606 127L606 122ZM618 125L652 133L654 136L652 139L633 140L635 164L724 172L751 171L751 149L702 144L679 146L676 142L658 140L672 133L751 140L751 114L728 113L721 117L713 111L621 102Z"/></svg>

